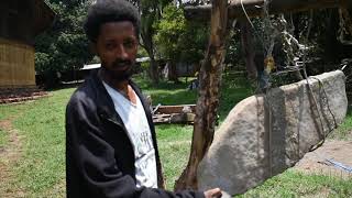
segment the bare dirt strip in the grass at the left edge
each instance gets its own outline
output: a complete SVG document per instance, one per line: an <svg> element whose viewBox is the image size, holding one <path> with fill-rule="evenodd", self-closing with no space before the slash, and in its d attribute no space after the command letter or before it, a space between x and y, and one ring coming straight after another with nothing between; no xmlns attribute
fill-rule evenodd
<svg viewBox="0 0 352 198"><path fill-rule="evenodd" d="M9 143L0 147L0 197L2 198L24 197L23 190L15 187L15 176L10 168L18 163L22 154L21 136L12 128L13 120L14 118L10 118L0 121L0 129L9 135Z"/></svg>

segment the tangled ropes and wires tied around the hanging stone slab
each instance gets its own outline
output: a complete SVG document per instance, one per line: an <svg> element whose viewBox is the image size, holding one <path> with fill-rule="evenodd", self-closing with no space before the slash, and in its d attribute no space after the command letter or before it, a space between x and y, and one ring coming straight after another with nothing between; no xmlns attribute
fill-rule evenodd
<svg viewBox="0 0 352 198"><path fill-rule="evenodd" d="M307 51L309 47L307 47L306 45L302 45L298 42L297 38L295 38L290 32L287 31L287 26L288 26L288 23L287 21L285 20L284 15L280 14L277 20L276 20L276 25L274 25L274 23L272 22L271 20L271 16L270 16L270 12L268 12L268 6L271 3L271 0L264 0L264 4L263 4L263 15L264 15L264 33L263 33L263 38L258 36L256 30L255 30L255 26L253 24L253 22L251 21L244 6L243 6L243 0L241 0L241 7L242 7L242 10L244 12L244 15L246 16L249 23L251 24L252 29L254 30L254 33L256 35L256 37L261 41L261 43L263 44L263 50L264 50L264 73L262 74L262 78L263 78L263 85L261 86L262 90L264 90L265 95L264 95L264 100L265 100L265 106L267 107L268 109L268 153L270 153L270 172L271 172L271 175L272 175L272 127L273 127L273 112L272 112L272 105L271 105L271 101L270 101L270 96L268 92L270 92L270 89L272 88L272 85L271 85L271 77L273 75L280 75L283 73L288 73L288 72L298 72L300 69L302 69L304 72L304 77L305 79L307 80L307 86L308 86L308 91L312 98L312 106L316 108L316 112L317 112L317 117L320 121L320 128L318 127L318 131L319 133L321 134L321 138L322 138L322 141L320 141L317 145L314 145L310 147L310 151L314 151L318 147L320 147L323 143L324 143L324 140L326 140L326 134L324 134L324 128L323 128L323 121L322 121L322 118L321 118L321 112L319 111L319 106L318 106L318 102L317 102L317 99L314 95L314 91L312 91L312 88L309 84L309 80L308 80L308 75L307 75L307 70L306 70L306 57L307 57ZM310 29L311 29L311 23L312 23L312 16L314 16L314 12L310 11L310 18L309 18L309 21L308 21L308 24L307 24L307 34L305 35L305 41L306 43L308 43L308 38L309 38L309 34L310 34ZM293 31L292 31L293 32ZM275 59L273 57L273 50L274 50L274 46L275 46L275 38L280 35L282 36L282 40L283 40L283 43L284 43L284 52L286 54L286 64L287 65L294 65L294 66L285 66L285 70L284 72L279 72L277 74L275 73L272 73L276 66L275 66ZM298 57L297 57L298 55ZM299 57L302 58L302 61L300 62L299 61ZM319 86L322 87L323 89L323 92L326 95L326 91L324 91L324 88L323 88L323 84L319 80ZM333 122L334 122L334 128L337 127L337 123L336 123L336 119L334 119L334 116L330 109L330 106L329 106L329 101L328 101L328 98L327 98L327 106L328 106L328 110L330 111L332 118L333 118ZM314 113L314 112L312 112ZM330 124L330 123L328 123Z"/></svg>

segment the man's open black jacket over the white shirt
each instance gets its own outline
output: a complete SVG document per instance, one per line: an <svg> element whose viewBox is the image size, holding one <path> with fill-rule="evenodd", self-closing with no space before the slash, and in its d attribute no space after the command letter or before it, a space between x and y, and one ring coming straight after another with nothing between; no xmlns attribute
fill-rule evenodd
<svg viewBox="0 0 352 198"><path fill-rule="evenodd" d="M157 180L162 168L150 109L140 97L155 148ZM138 122L138 120L135 120ZM66 109L66 186L68 198L204 197L202 193L136 188L134 153L127 129L97 72L74 92Z"/></svg>

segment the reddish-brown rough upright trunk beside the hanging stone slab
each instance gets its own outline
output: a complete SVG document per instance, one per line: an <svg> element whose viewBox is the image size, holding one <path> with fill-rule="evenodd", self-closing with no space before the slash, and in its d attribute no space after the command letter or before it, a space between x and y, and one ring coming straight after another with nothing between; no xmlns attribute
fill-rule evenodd
<svg viewBox="0 0 352 198"><path fill-rule="evenodd" d="M228 35L228 1L212 0L211 34L205 62L200 68L199 98L196 109L191 151L188 165L175 184L175 190L198 188L197 169L208 151L215 133L219 106L222 63Z"/></svg>

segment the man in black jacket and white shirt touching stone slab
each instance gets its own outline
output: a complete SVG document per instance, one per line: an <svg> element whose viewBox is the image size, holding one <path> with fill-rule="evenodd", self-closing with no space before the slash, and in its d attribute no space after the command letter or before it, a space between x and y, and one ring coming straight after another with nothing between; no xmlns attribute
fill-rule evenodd
<svg viewBox="0 0 352 198"><path fill-rule="evenodd" d="M85 31L101 68L66 110L67 197L218 197L221 191L160 189L163 176L150 109L130 80L140 18L123 0L94 4Z"/></svg>

